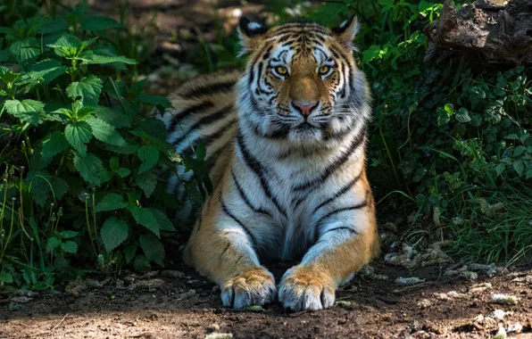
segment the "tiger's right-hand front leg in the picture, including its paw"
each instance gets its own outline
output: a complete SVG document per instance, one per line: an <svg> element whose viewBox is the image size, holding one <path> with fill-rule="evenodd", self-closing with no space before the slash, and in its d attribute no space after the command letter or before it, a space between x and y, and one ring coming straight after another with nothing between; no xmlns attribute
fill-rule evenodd
<svg viewBox="0 0 532 339"><path fill-rule="evenodd" d="M335 291L378 252L370 194L366 202L331 211L318 225L318 241L301 263L282 277L278 299L291 310L321 310L334 305Z"/></svg>

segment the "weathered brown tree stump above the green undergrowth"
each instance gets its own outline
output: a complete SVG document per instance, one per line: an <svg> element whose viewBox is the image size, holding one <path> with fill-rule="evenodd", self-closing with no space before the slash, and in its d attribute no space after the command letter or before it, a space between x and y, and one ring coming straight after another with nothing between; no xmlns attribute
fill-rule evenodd
<svg viewBox="0 0 532 339"><path fill-rule="evenodd" d="M477 0L460 10L445 0L425 28L425 61L476 52L487 63L532 65L532 0ZM444 53L442 53L444 52Z"/></svg>

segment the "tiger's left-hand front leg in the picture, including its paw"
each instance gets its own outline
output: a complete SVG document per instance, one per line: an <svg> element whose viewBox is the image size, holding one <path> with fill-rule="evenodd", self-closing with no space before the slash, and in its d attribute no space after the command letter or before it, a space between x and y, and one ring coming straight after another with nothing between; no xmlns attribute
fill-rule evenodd
<svg viewBox="0 0 532 339"><path fill-rule="evenodd" d="M184 252L184 260L221 289L225 307L241 309L275 300L273 275L259 262L254 238L217 190L204 205Z"/></svg>

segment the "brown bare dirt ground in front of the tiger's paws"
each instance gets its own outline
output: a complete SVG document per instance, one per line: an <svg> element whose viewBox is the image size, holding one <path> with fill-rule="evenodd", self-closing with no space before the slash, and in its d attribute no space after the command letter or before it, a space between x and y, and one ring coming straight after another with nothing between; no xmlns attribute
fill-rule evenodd
<svg viewBox="0 0 532 339"><path fill-rule="evenodd" d="M17 303L18 310L2 302L0 337L204 338L214 332L234 338L491 338L503 327L514 329L513 337L532 338L531 269L480 274L470 281L445 277L448 266L408 270L378 260L374 272L337 292L335 307L297 313L278 302L263 309L225 309L217 286L179 266L147 277L122 276L100 287L93 283L78 297L32 295ZM279 279L289 267L269 268ZM424 281L398 285L397 277ZM493 303L493 294L518 301Z"/></svg>

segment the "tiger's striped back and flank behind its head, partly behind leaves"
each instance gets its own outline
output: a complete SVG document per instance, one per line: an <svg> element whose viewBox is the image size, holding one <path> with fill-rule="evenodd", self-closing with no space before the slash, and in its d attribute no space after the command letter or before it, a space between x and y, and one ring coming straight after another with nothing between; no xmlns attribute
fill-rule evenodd
<svg viewBox="0 0 532 339"><path fill-rule="evenodd" d="M242 71L218 71L190 79L169 96L173 109L162 116L167 130L167 141L179 154L192 155L200 139L206 147L205 162L212 185L217 186L229 161L237 134L237 81ZM192 173L183 173L179 166L176 176L168 179L167 190L176 194L183 209L180 218L192 216L181 179L190 179Z"/></svg>

